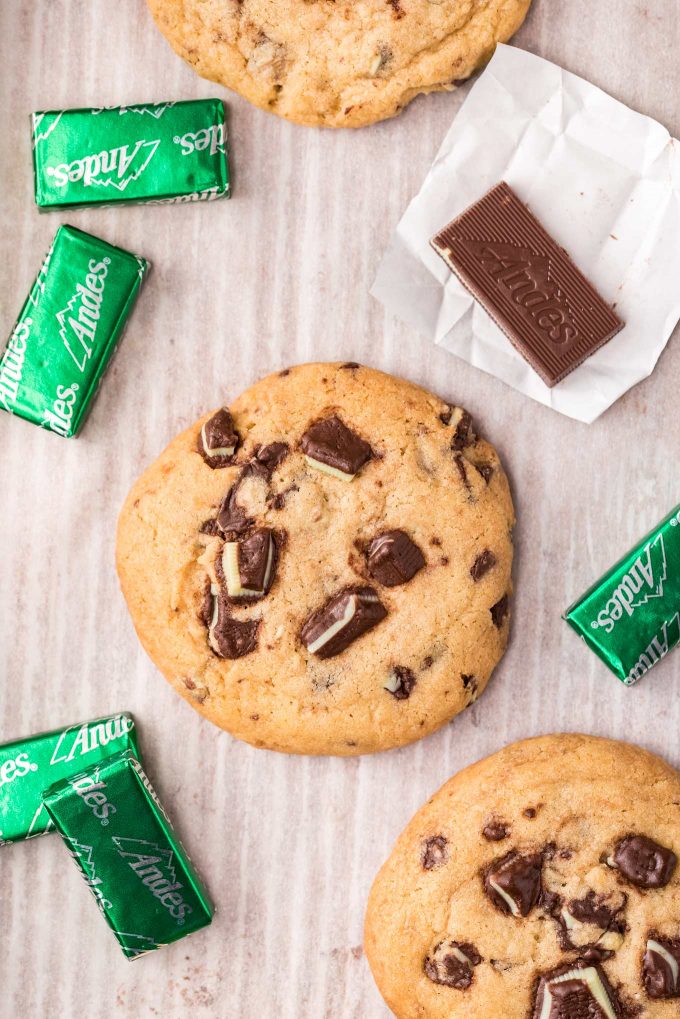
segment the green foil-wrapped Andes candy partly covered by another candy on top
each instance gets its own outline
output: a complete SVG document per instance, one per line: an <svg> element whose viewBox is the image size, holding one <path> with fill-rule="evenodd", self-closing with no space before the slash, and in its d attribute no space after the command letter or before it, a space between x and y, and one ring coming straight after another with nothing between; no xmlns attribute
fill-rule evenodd
<svg viewBox="0 0 680 1019"><path fill-rule="evenodd" d="M0 846L51 830L43 792L121 750L139 753L129 714L95 718L0 746Z"/></svg>

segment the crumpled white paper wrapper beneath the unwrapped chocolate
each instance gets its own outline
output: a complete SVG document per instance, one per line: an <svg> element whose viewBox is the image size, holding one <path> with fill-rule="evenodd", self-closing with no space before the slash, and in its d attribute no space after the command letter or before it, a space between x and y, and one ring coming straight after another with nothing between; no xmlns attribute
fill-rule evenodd
<svg viewBox="0 0 680 1019"><path fill-rule="evenodd" d="M626 323L552 389L429 245L500 180ZM680 318L680 143L583 78L499 46L397 227L371 293L476 368L592 422L650 374Z"/></svg>

